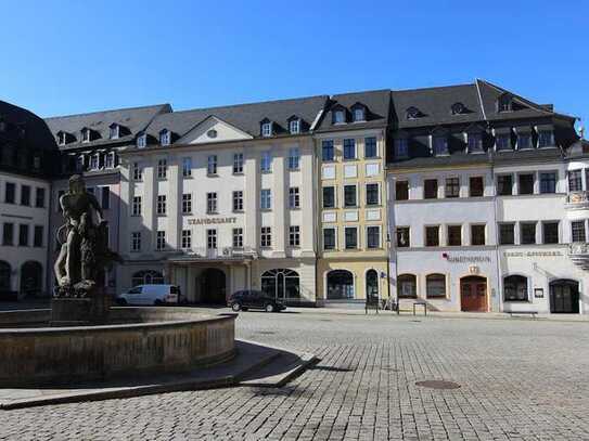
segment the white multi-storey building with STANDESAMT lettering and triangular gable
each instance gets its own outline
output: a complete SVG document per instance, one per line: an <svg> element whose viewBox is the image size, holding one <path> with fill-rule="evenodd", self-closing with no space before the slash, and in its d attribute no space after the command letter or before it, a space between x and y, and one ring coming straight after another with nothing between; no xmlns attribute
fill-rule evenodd
<svg viewBox="0 0 589 441"><path fill-rule="evenodd" d="M315 302L312 126L326 98L161 115L123 155L123 287Z"/></svg>

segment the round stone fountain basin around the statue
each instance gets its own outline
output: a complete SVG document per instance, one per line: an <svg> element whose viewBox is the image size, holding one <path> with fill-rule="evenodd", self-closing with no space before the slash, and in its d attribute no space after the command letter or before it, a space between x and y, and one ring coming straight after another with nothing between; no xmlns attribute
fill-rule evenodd
<svg viewBox="0 0 589 441"><path fill-rule="evenodd" d="M0 387L182 372L235 353L236 314L111 308L108 324L77 327L49 327L50 316L0 312Z"/></svg>

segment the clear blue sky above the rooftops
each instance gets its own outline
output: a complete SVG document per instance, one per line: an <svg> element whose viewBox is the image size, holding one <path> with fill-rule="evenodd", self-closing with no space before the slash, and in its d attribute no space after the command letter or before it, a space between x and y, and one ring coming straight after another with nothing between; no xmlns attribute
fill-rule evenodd
<svg viewBox="0 0 589 441"><path fill-rule="evenodd" d="M484 78L589 119L588 1L0 1L0 100L41 116Z"/></svg>

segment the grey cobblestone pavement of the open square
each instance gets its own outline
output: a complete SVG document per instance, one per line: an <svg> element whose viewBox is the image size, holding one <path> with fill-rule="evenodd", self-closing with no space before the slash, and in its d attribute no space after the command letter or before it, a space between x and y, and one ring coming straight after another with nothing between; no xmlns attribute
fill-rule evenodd
<svg viewBox="0 0 589 441"><path fill-rule="evenodd" d="M321 361L281 389L7 411L0 439L589 439L587 323L247 312L238 335Z"/></svg>

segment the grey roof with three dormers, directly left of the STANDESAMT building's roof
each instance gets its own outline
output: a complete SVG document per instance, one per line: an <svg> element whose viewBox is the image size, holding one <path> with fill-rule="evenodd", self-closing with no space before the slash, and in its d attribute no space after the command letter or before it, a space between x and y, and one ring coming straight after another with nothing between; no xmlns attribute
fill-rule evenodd
<svg viewBox="0 0 589 441"><path fill-rule="evenodd" d="M135 142L137 133L144 130L153 118L162 113L171 112L169 104L157 104L142 107L119 108L115 111L93 112L89 114L57 116L46 118L54 137L60 131L71 133L75 137L75 141L66 145L60 145L62 150L71 150L78 147L99 147L105 144ZM118 124L128 130L127 134L120 135L116 140L110 139L110 126ZM81 142L81 129L89 128L99 137L90 142Z"/></svg>

